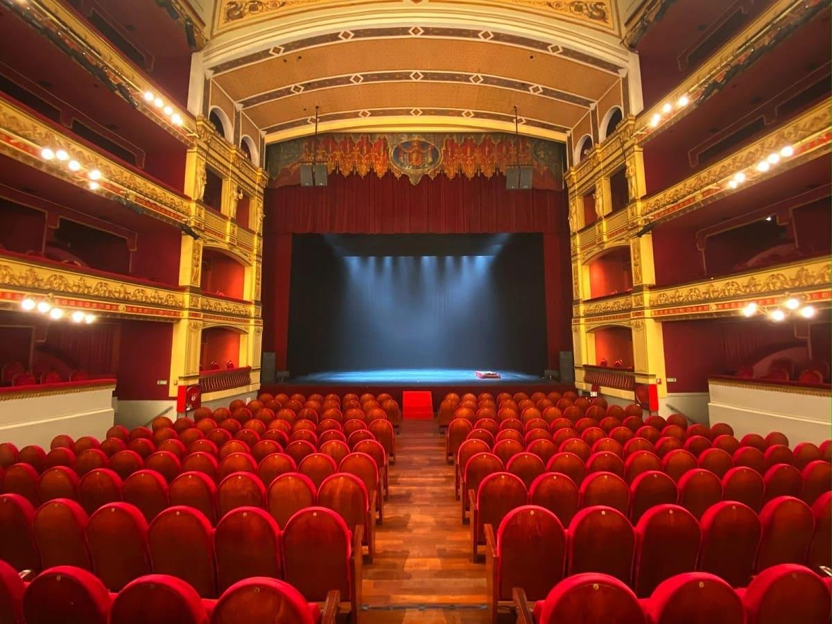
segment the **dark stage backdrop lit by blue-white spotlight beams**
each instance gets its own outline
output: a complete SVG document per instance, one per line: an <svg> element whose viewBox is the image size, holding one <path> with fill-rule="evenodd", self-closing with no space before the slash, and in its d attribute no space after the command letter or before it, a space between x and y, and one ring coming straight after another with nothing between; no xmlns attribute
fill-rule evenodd
<svg viewBox="0 0 832 624"><path fill-rule="evenodd" d="M542 235L296 235L287 365L542 374Z"/></svg>

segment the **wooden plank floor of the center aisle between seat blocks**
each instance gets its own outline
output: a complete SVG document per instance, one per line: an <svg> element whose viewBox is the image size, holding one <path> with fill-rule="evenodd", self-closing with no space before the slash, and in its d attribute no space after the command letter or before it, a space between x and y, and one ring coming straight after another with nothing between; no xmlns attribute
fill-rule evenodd
<svg viewBox="0 0 832 624"><path fill-rule="evenodd" d="M376 556L364 568L362 624L488 622L485 564L471 562L437 429L435 420L401 425Z"/></svg>

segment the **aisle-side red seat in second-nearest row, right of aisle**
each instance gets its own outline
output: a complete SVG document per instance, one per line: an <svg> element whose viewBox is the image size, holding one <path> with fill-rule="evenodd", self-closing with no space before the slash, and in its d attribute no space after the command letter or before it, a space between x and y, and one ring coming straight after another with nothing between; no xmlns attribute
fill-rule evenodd
<svg viewBox="0 0 832 624"><path fill-rule="evenodd" d="M508 512L497 530L497 600L511 600L522 587L529 600L542 600L563 578L567 535L547 509L523 505Z"/></svg>

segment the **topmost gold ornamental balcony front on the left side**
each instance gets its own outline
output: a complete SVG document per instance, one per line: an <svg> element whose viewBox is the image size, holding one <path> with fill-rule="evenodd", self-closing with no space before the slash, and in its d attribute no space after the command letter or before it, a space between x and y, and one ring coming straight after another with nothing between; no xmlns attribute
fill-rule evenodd
<svg viewBox="0 0 832 624"><path fill-rule="evenodd" d="M79 55L84 62L82 67L91 72L102 82L109 82L113 91L130 102L148 119L156 123L186 145L190 145L196 136L194 117L185 108L178 106L174 98L166 95L160 87L146 77L136 66L128 61L121 52L111 46L104 37L89 26L67 2L61 0L3 0L17 12L22 20L41 32L49 33L44 37L44 45L52 45L50 39L66 53L67 48ZM178 5L181 2L176 1ZM180 12L180 14L182 14ZM161 16L160 16L161 17ZM196 36L196 29L195 29ZM181 125L176 125L168 116L162 114L152 102L146 102L144 93L151 92L163 98L179 116ZM172 115L171 115L172 118Z"/></svg>

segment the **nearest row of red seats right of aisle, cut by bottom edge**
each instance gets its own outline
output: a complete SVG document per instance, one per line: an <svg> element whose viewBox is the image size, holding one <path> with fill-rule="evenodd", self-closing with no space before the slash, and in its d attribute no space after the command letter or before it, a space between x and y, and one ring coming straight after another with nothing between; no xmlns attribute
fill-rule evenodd
<svg viewBox="0 0 832 624"><path fill-rule="evenodd" d="M827 624L830 584L805 567L786 563L760 573L741 589L706 572L686 572L639 600L617 578L589 572L559 582L533 612L518 588L514 606L518 624Z"/></svg>

